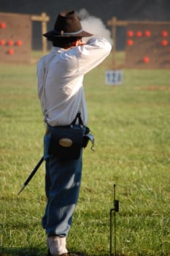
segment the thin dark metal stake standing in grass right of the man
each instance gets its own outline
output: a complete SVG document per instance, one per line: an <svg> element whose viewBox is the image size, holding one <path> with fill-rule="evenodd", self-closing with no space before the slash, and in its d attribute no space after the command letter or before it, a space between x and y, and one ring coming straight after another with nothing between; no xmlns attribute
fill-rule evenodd
<svg viewBox="0 0 170 256"><path fill-rule="evenodd" d="M114 211L114 234L115 234L115 238L114 238L114 248L115 248L115 253L114 255L116 256L116 212L119 211L119 200L116 200L116 184L114 184L114 200L113 200L113 205L114 208L112 208L110 210L110 256L112 256L112 211Z"/></svg>

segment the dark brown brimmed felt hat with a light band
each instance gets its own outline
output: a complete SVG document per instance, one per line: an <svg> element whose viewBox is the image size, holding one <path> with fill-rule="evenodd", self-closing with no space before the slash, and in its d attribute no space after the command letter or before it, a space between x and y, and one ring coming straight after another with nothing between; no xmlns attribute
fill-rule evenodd
<svg viewBox="0 0 170 256"><path fill-rule="evenodd" d="M93 34L82 30L80 19L74 10L61 12L55 21L54 29L43 34L44 37L91 37Z"/></svg>

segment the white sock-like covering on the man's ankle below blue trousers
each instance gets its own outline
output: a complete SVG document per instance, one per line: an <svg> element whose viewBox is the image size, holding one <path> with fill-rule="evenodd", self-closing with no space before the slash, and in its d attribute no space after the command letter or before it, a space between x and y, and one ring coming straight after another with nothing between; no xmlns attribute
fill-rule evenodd
<svg viewBox="0 0 170 256"><path fill-rule="evenodd" d="M47 238L47 246L53 256L63 255L68 252L66 249L66 237L49 236Z"/></svg>

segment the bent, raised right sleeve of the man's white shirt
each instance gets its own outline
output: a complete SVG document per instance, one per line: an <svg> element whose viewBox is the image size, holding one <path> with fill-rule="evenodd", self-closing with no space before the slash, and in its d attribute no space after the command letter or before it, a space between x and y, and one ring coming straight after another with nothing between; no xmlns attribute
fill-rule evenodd
<svg viewBox="0 0 170 256"><path fill-rule="evenodd" d="M85 75L107 58L112 50L112 45L104 37L93 37L86 45L78 46L77 64L80 75Z"/></svg>

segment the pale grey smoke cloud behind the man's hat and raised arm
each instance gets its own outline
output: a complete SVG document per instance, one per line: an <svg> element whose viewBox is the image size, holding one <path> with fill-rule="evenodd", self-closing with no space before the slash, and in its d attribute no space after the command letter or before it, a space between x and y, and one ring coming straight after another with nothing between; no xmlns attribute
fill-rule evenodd
<svg viewBox="0 0 170 256"><path fill-rule="evenodd" d="M105 37L113 45L111 32L106 28L100 18L91 16L85 9L81 9L77 12L77 15L81 20L82 29L93 34L93 37Z"/></svg>

